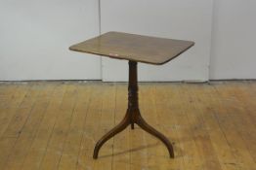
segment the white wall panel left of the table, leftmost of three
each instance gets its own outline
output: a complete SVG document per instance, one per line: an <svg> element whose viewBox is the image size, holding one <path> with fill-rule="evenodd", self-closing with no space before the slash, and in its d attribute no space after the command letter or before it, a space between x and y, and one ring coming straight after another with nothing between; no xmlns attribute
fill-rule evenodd
<svg viewBox="0 0 256 170"><path fill-rule="evenodd" d="M99 35L95 0L0 0L0 81L101 79L101 58L68 51Z"/></svg>

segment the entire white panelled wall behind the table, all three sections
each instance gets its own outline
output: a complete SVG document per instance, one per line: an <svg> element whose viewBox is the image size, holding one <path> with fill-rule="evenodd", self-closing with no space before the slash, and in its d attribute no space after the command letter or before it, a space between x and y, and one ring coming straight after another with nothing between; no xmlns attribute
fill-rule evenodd
<svg viewBox="0 0 256 170"><path fill-rule="evenodd" d="M0 0L0 81L127 81L127 62L68 51L99 35L100 9L102 33L195 41L166 65L139 64L142 81L256 79L255 0Z"/></svg>

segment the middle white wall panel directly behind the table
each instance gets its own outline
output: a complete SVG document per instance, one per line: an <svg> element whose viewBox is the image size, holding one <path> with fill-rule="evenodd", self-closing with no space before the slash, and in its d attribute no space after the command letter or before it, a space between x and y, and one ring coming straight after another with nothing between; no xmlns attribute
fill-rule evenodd
<svg viewBox="0 0 256 170"><path fill-rule="evenodd" d="M195 46L162 66L139 64L140 81L207 81L212 0L103 0L102 33L122 31L192 40ZM127 61L103 57L104 81L127 81Z"/></svg>

